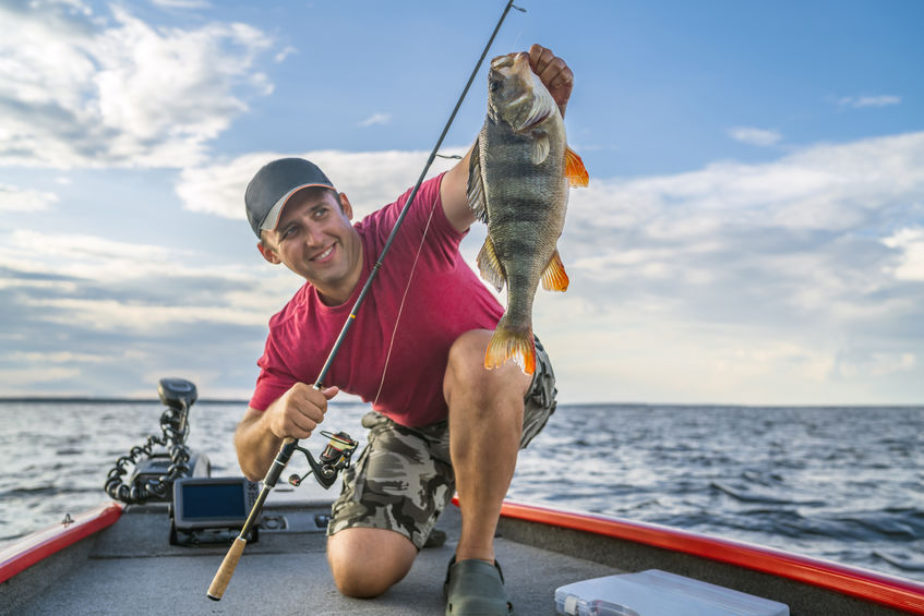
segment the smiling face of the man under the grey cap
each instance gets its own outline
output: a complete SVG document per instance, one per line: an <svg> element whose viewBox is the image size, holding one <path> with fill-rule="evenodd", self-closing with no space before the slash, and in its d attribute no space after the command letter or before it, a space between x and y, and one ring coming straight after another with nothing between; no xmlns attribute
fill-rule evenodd
<svg viewBox="0 0 924 616"><path fill-rule="evenodd" d="M281 263L311 282L323 299L340 304L349 299L362 271L362 244L350 219L347 195L304 189L286 204L274 231L257 244L269 263Z"/></svg>

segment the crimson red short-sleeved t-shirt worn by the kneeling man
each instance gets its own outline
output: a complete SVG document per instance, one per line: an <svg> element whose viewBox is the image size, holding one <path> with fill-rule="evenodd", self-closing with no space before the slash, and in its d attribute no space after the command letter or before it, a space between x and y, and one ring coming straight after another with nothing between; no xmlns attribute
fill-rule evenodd
<svg viewBox="0 0 924 616"><path fill-rule="evenodd" d="M440 201L442 176L424 182L401 224L382 269L372 282L344 343L324 379L407 426L446 418L443 376L449 347L470 329L493 329L503 307L459 254L459 233L449 224ZM363 283L392 232L407 191L395 203L355 225L362 240L362 274L344 304L327 306L310 282L269 319L269 336L257 364L261 373L250 406L266 410L297 382L312 384L344 327ZM432 220L408 286L420 239ZM401 297L407 298L384 376L392 331Z"/></svg>

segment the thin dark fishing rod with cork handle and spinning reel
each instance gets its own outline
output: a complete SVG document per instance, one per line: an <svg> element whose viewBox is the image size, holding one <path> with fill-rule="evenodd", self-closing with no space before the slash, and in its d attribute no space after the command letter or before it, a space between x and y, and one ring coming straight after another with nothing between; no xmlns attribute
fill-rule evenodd
<svg viewBox="0 0 924 616"><path fill-rule="evenodd" d="M484 49L481 51L481 57L478 59L478 62L475 64L475 69L471 71L471 75L468 77L468 83L466 83L465 88L463 89L459 99L456 101L456 106L453 109L453 112L449 114L448 121L446 121L446 125L443 128L443 132L440 134L440 138L436 140L436 145L433 146L433 150L430 153L430 157L427 159L427 165L423 166L423 171L420 172L420 177L417 180L417 183L413 185L413 190L411 190L410 195L405 202L404 207L401 208L400 214L398 215L397 220L395 220L395 226L392 228L392 233L388 235L388 239L385 241L385 245L382 247L382 253L379 255L379 259L375 262L375 265L372 267L372 271L369 274L369 278L365 280L365 283L362 287L362 290L359 293L359 297L353 304L352 310L350 311L349 316L347 317L346 323L344 323L344 327L340 330L339 336L337 336L337 340L334 342L334 347L331 349L331 353L327 355L327 360L324 362L324 366L321 369L321 373L317 375L317 379L314 382L312 387L314 389L321 389L322 383L324 378L327 376L327 372L331 370L331 365L334 363L334 358L337 357L337 353L340 350L340 346L344 342L344 338L347 336L347 331L349 331L350 327L356 321L357 313L359 312L362 302L365 300L367 293L369 293L369 289L372 287L373 280L379 274L379 270L382 269L382 262L385 259L385 255L388 253L388 249L392 247L392 242L395 240L395 235L398 234L398 229L404 222L405 217L407 216L408 210L410 209L410 204L413 203L415 197L417 196L417 192L420 190L420 185L423 183L423 179L427 177L427 172L430 170L430 166L433 164L433 160L436 158L436 153L440 149L440 146L443 145L443 140L446 137L446 133L449 132L449 126L453 124L453 120L456 119L456 113L458 113L459 108L461 107L463 100L465 100L466 95L468 94L469 87L471 87L471 83L475 81L475 76L478 74L479 69L481 69L481 63L484 61L484 57L488 56L488 51L491 48L491 45L494 43L494 37L497 36L497 32L501 29L501 24L504 23L504 20L509 13L511 9L516 9L523 13L526 12L526 9L520 9L519 7L514 7L514 0L508 0L507 5L504 8L504 12L501 14L501 19L497 20L497 24L494 26L494 32L491 33L491 38L488 39L488 44L484 46ZM295 451L301 451L308 458L309 464L312 468L317 480L321 482L324 487L329 487L336 479L337 472L347 466L349 466L349 457L352 455L353 449L356 449L357 443L349 437L346 433L337 433L336 435L322 433L325 436L331 437L331 442L327 444L327 447L322 454L321 463L317 464L314 461L314 458L311 456L311 452L308 449L303 449L298 446L298 439L289 436L283 440L283 446L279 448L279 452L276 455L276 459L271 464L269 470L266 472L266 476L263 479L263 490L260 491L260 495L256 497L256 502L253 505L253 508L250 511L250 515L244 522L244 526L241 528L240 533L237 539L235 539L231 547L228 549L228 553L225 555L225 559L221 561L221 566L218 568L218 571L215 573L215 578L212 580L212 584L208 587L208 599L213 601L220 601L221 596L225 594L225 590L228 588L228 583L231 581L231 576L235 575L235 568L238 566L238 560L240 560L241 555L243 554L244 546L247 545L247 536L250 534L253 529L256 519L260 517L260 512L263 510L263 504L266 502L266 497L276 486L276 482L279 480L279 475L283 474L283 470L286 468L286 464L289 462L289 459L292 457ZM305 475L307 476L307 475ZM299 479L298 475L295 478L296 481L292 481L293 484L298 485L302 479Z"/></svg>

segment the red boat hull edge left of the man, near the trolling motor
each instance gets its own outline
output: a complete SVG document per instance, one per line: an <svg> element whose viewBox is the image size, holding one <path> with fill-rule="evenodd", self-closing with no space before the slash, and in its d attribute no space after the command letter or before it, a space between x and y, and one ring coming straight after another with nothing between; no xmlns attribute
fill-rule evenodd
<svg viewBox="0 0 924 616"><path fill-rule="evenodd" d="M116 523L122 505L107 503L79 514L73 522L34 532L0 548L0 583L96 532Z"/></svg>

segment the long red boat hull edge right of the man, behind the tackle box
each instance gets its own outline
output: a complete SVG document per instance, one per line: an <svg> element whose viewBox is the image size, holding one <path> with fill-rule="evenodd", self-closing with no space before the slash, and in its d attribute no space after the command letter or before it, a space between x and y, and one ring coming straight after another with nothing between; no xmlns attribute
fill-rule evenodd
<svg viewBox="0 0 924 616"><path fill-rule="evenodd" d="M689 554L924 615L924 584L876 571L658 524L509 500L501 516Z"/></svg>

